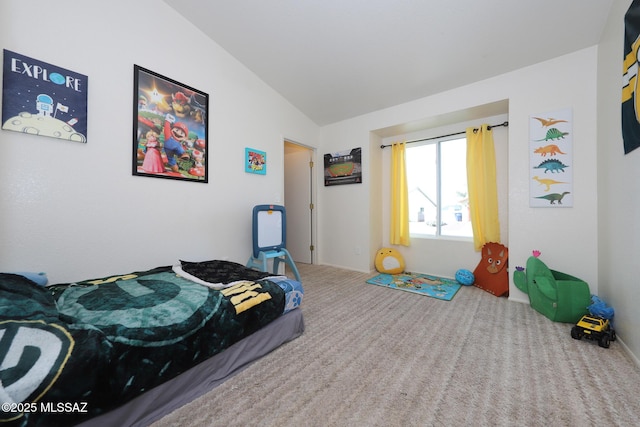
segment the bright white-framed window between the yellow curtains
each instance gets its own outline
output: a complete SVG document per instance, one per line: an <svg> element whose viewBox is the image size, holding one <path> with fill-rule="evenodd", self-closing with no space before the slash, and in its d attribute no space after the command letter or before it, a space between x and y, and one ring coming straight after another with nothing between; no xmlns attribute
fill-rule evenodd
<svg viewBox="0 0 640 427"><path fill-rule="evenodd" d="M407 145L412 236L473 237L467 190L467 139Z"/></svg>

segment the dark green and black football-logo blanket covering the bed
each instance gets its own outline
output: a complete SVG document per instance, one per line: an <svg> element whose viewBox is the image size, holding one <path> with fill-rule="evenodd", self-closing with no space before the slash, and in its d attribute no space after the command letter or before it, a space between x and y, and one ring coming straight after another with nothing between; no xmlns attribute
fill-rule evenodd
<svg viewBox="0 0 640 427"><path fill-rule="evenodd" d="M284 291L269 280L217 291L171 267L48 288L0 274L0 401L9 404L0 425L70 425L99 415L221 352L284 307Z"/></svg>

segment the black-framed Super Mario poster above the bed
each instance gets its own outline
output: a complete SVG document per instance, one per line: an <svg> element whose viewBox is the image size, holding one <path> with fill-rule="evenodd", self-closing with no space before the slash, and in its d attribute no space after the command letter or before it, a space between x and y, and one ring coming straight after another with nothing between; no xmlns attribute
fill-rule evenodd
<svg viewBox="0 0 640 427"><path fill-rule="evenodd" d="M209 95L134 65L133 174L208 182Z"/></svg>

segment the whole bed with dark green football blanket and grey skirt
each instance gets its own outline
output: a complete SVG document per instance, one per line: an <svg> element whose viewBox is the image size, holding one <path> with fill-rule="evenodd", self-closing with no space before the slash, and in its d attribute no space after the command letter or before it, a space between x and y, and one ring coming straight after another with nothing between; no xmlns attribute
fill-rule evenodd
<svg viewBox="0 0 640 427"><path fill-rule="evenodd" d="M230 261L41 286L0 273L0 426L145 426L304 331L303 288Z"/></svg>

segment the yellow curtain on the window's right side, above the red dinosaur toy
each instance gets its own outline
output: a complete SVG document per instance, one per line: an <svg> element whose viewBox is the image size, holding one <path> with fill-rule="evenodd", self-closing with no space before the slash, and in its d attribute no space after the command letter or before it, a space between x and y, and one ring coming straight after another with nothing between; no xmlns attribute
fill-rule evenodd
<svg viewBox="0 0 640 427"><path fill-rule="evenodd" d="M488 125L467 129L467 186L473 244L480 251L487 242L500 243L496 153Z"/></svg>

